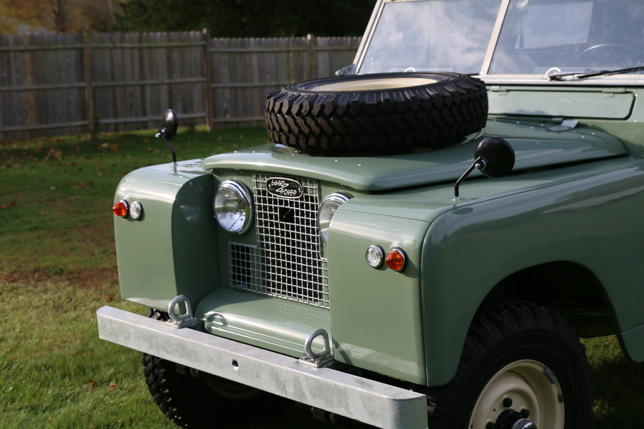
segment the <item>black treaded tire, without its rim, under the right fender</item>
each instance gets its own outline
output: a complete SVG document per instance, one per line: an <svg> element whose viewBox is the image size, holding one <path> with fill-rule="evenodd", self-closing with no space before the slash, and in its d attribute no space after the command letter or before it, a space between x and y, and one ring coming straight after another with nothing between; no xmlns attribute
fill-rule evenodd
<svg viewBox="0 0 644 429"><path fill-rule="evenodd" d="M585 347L565 320L521 300L486 304L469 328L456 376L426 390L430 428L466 429L480 392L510 363L534 360L552 370L562 388L565 428L587 429L594 414Z"/></svg>

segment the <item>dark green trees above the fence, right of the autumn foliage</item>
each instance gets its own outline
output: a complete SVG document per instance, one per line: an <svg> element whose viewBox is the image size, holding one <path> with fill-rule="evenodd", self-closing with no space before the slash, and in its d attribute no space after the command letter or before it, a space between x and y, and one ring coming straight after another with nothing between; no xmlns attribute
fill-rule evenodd
<svg viewBox="0 0 644 429"><path fill-rule="evenodd" d="M210 28L214 37L362 35L375 0L129 0L115 15L126 32Z"/></svg>

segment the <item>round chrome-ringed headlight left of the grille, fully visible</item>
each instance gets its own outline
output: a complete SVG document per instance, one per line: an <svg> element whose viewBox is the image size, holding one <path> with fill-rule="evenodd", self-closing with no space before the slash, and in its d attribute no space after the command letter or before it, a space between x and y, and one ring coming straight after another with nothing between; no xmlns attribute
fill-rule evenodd
<svg viewBox="0 0 644 429"><path fill-rule="evenodd" d="M227 232L243 234L251 228L252 200L241 183L223 181L214 194L213 208L214 217Z"/></svg>

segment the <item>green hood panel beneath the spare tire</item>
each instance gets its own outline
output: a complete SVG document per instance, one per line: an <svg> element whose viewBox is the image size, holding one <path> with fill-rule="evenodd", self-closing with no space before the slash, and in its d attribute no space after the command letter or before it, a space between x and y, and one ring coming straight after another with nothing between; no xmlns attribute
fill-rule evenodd
<svg viewBox="0 0 644 429"><path fill-rule="evenodd" d="M514 170L609 158L627 153L620 140L601 131L576 128L550 132L540 122L489 120L484 135L446 149L391 156L310 156L282 145L265 145L206 158L204 170L237 169L294 174L377 191L458 179L486 136L505 138L515 150ZM474 170L471 177L481 175Z"/></svg>

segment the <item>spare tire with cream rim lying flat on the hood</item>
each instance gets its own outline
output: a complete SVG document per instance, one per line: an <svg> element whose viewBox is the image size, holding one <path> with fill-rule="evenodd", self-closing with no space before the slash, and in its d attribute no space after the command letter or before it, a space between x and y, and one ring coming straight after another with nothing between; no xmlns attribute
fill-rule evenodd
<svg viewBox="0 0 644 429"><path fill-rule="evenodd" d="M379 73L307 80L269 93L275 143L334 155L438 149L480 131L485 84L460 73Z"/></svg>

